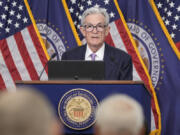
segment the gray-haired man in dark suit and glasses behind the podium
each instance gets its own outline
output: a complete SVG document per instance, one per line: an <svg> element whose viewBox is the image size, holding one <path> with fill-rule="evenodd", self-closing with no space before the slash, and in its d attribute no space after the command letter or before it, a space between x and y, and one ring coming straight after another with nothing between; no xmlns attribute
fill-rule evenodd
<svg viewBox="0 0 180 135"><path fill-rule="evenodd" d="M106 80L132 80L132 60L124 51L106 44L109 15L103 8L87 9L81 18L80 30L87 44L62 55L62 60L104 60Z"/></svg>

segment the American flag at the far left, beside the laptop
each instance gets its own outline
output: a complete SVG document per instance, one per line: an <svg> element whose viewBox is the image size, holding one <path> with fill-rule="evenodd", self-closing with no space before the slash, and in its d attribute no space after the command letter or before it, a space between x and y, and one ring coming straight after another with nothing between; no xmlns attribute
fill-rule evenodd
<svg viewBox="0 0 180 135"><path fill-rule="evenodd" d="M27 6L26 0L0 0L0 89L38 80L47 62Z"/></svg>

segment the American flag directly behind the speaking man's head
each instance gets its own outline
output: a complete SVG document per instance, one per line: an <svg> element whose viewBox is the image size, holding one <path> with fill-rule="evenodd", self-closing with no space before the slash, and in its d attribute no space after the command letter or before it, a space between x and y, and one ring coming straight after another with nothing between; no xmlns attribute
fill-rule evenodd
<svg viewBox="0 0 180 135"><path fill-rule="evenodd" d="M151 87L151 80L149 80L150 76L147 74L147 71L145 71L146 69L145 66L143 66L142 60L140 60L140 55L138 55L135 50L135 45L133 45L132 42L133 39L131 39L127 33L127 28L125 22L123 22L123 15L119 9L117 0L63 0L63 2L66 3L68 8L66 10L68 10L71 15L72 20L70 24L73 23L71 25L75 26L82 42L85 42L79 30L82 13L90 7L105 8L110 16L110 33L106 38L106 42L131 55L133 60L133 80L143 80L150 93L154 91L154 88ZM155 122L152 122L152 130L154 130L155 123L156 127L158 127L158 116L154 105L154 98L155 97L152 97L152 110L155 116ZM154 121L153 116L152 121Z"/></svg>

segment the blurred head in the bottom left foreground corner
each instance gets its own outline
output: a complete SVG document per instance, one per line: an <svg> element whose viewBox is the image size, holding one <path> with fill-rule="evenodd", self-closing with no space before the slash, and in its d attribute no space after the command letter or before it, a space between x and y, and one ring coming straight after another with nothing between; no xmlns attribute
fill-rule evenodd
<svg viewBox="0 0 180 135"><path fill-rule="evenodd" d="M31 88L1 93L0 135L52 135L54 128L60 130L51 104L41 93Z"/></svg>

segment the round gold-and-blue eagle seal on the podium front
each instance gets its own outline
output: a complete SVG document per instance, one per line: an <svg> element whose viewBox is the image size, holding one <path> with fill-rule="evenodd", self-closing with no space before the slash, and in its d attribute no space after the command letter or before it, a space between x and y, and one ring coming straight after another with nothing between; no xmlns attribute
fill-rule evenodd
<svg viewBox="0 0 180 135"><path fill-rule="evenodd" d="M75 130L87 129L95 123L98 100L88 90L77 88L66 92L59 101L61 121Z"/></svg>

